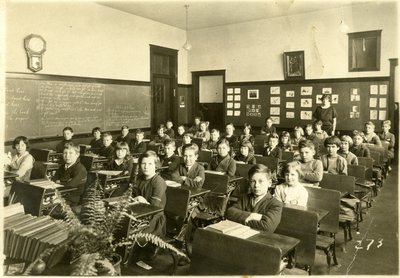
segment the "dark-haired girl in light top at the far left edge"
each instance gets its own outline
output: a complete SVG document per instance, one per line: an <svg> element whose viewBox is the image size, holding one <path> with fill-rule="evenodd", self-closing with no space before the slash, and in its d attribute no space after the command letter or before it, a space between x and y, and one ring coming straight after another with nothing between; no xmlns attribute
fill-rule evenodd
<svg viewBox="0 0 400 278"><path fill-rule="evenodd" d="M8 153L5 160L5 169L18 175L16 180L29 182L35 159L29 153L29 140L25 136L18 136L13 141L12 148L16 154Z"/></svg>

